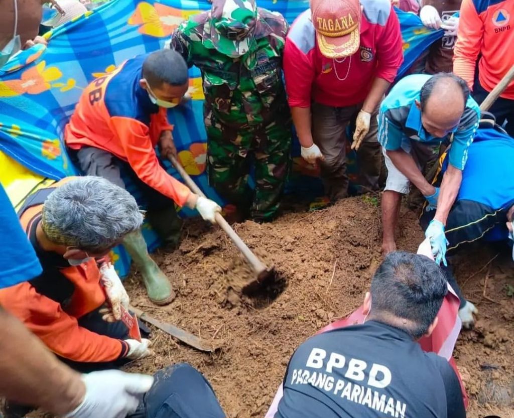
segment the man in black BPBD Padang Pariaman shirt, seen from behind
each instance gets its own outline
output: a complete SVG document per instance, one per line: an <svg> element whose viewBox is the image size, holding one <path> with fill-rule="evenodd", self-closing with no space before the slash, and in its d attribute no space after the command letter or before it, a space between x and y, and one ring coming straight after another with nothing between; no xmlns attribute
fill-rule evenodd
<svg viewBox="0 0 514 418"><path fill-rule="evenodd" d="M396 251L378 267L363 324L305 341L292 355L275 418L464 418L458 378L421 350L447 293L440 267Z"/></svg>

